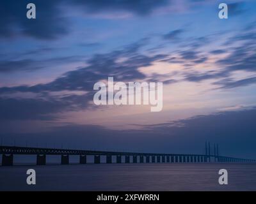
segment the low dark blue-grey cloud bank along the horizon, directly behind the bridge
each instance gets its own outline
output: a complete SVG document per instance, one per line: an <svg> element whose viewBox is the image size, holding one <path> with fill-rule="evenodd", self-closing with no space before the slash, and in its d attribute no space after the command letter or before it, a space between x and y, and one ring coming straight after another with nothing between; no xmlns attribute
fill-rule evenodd
<svg viewBox="0 0 256 204"><path fill-rule="evenodd" d="M68 124L39 133L8 133L0 123L4 143L37 142L44 147L62 143L65 148L128 150L134 152L204 154L204 143L219 143L220 154L255 159L256 109L198 115L184 120L141 126L142 129L113 130L102 126ZM29 129L29 126L26 127ZM22 138L22 139L20 139ZM61 142L60 142L61 138ZM71 140L70 140L71 139ZM71 141L71 142L70 142ZM146 141L146 142L145 142Z"/></svg>

